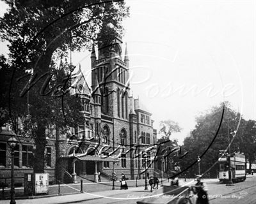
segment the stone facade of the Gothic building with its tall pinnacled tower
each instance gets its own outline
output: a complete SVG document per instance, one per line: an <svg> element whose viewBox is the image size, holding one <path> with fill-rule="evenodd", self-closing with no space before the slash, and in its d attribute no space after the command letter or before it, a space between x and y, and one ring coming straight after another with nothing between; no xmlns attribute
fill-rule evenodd
<svg viewBox="0 0 256 204"><path fill-rule="evenodd" d="M123 157L115 163L115 173L117 175L125 173L129 179L143 177L144 174L141 175L141 171L145 169L143 156L140 155L135 159L134 156L156 143L156 130L153 129L152 114L141 106L139 99L134 99L131 96L129 57L126 47L124 59L122 59L121 45L122 39L118 37L113 46L104 49L98 48L97 56L93 47L91 89L88 87L80 67L79 71L73 75L73 88L70 92L78 95L83 101L86 122L84 124L77 122L76 128L70 128L68 134L60 134L60 138L56 138L56 133L53 133L47 139L47 147L51 147L51 166L45 166L45 172L49 172L50 182L54 182L56 173L60 175L59 179L62 181L67 181L68 177L74 173L86 178L87 175L101 171L110 176L114 168L113 162L100 161L97 162L96 167L93 166L93 161L77 159L77 157L85 156L85 153L95 143L98 143L98 146L90 153L91 155L99 156L99 150L104 145L109 145L110 148L105 151L108 153L118 147L124 148L124 152L134 149L127 154L123 152ZM1 132L0 142L4 143L8 140L8 135L5 136L6 138L2 135ZM72 136L67 137L67 135ZM94 140L89 140L92 137ZM20 141L22 145L26 143L26 140L28 138L22 138ZM29 140L28 143L33 145L32 140ZM22 145L20 145L19 154L20 166L15 168L15 172L19 173L20 180L24 177L24 173L33 171L31 168L22 166ZM138 145L140 147L137 147ZM56 147L60 149L59 152L56 152ZM7 149L6 152L8 156L10 150ZM50 155L50 152L48 153ZM120 150L116 151L115 155L119 153ZM10 157L8 157L6 166L0 166L2 177L10 177L9 159ZM56 163L60 164L58 170L56 170ZM147 171L153 175L154 164Z"/></svg>

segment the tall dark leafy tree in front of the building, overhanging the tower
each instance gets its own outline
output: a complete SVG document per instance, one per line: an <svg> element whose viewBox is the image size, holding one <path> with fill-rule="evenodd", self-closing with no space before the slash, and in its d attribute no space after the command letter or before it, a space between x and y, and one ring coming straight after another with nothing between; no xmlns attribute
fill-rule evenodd
<svg viewBox="0 0 256 204"><path fill-rule="evenodd" d="M14 2L5 0L10 8L0 22L0 36L10 50L10 74L4 78L8 94L1 107L8 104L15 131L15 121L23 119L24 133L35 139L34 170L42 172L45 127L54 124L58 134L84 121L79 99L68 93L73 68L58 69L58 57L67 56L68 50L90 48L93 41L109 44L122 33L128 9L123 1Z"/></svg>

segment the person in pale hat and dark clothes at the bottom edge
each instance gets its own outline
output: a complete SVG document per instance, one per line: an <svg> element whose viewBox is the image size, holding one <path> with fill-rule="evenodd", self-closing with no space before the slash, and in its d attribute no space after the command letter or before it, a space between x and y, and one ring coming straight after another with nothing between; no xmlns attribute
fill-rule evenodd
<svg viewBox="0 0 256 204"><path fill-rule="evenodd" d="M196 175L196 184L193 187L193 193L197 195L196 204L209 204L207 185L201 182L201 175Z"/></svg>

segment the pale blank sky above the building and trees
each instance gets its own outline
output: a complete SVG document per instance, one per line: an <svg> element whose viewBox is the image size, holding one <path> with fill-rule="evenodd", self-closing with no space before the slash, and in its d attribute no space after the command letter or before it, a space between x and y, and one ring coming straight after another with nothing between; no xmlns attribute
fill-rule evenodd
<svg viewBox="0 0 256 204"><path fill-rule="evenodd" d="M131 89L152 112L154 128L179 122L182 131L172 138L181 144L196 115L223 101L256 120L255 1L126 2ZM81 64L90 85L90 53L73 53L72 63Z"/></svg>

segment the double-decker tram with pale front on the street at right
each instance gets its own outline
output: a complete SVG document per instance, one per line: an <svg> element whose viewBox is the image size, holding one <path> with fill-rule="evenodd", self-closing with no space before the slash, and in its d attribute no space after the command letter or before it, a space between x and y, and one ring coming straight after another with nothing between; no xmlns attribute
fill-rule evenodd
<svg viewBox="0 0 256 204"><path fill-rule="evenodd" d="M229 180L228 175L228 154L225 153L219 158L220 171L219 179L220 182L227 182ZM245 168L245 156L239 153L233 153L230 155L230 170L232 182L243 181L246 179L246 168Z"/></svg>

